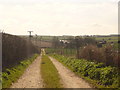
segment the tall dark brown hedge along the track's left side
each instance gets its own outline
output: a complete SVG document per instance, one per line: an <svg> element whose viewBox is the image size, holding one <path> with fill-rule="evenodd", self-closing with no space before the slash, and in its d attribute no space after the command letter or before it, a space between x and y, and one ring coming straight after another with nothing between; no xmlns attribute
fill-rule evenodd
<svg viewBox="0 0 120 90"><path fill-rule="evenodd" d="M30 40L21 37L2 34L2 70L18 64L21 60L39 53Z"/></svg>

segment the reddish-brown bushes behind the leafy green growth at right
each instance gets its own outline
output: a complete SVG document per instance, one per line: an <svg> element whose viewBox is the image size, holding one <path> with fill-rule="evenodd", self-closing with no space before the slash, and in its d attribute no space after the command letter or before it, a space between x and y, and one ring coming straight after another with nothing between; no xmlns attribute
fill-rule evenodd
<svg viewBox="0 0 120 90"><path fill-rule="evenodd" d="M107 66L120 67L120 53L115 51L112 46L98 48L94 45L88 45L81 49L80 58L89 61L102 62Z"/></svg>

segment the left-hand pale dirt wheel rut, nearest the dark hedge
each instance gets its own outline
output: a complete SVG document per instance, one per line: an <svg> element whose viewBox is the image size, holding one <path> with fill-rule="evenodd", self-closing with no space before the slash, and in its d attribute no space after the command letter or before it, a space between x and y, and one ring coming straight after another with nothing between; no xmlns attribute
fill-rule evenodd
<svg viewBox="0 0 120 90"><path fill-rule="evenodd" d="M11 88L42 88L42 79L40 75L40 62L41 56L39 56L20 77L20 79L13 83Z"/></svg>

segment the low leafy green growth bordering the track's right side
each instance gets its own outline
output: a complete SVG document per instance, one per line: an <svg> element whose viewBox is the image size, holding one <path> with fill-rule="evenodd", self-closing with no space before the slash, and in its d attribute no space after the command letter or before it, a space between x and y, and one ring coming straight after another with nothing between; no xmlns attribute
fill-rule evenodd
<svg viewBox="0 0 120 90"><path fill-rule="evenodd" d="M118 80L120 76L116 67L105 66L103 63L90 62L84 59L70 59L56 54L52 56L73 72L92 82L97 88L120 88Z"/></svg>

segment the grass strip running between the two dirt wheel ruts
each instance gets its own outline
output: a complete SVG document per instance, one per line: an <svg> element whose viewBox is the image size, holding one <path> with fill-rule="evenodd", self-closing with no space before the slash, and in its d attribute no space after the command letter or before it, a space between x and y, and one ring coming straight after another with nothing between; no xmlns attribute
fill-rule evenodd
<svg viewBox="0 0 120 90"><path fill-rule="evenodd" d="M42 56L41 75L45 88L62 88L58 71L46 55Z"/></svg>

